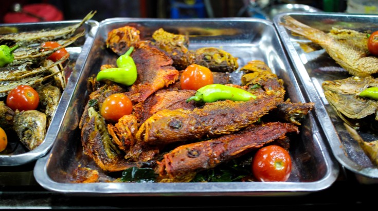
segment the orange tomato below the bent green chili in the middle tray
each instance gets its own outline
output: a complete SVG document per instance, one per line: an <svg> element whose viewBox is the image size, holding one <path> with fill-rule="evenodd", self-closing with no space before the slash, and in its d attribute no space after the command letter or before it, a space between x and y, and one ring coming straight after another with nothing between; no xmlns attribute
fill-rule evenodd
<svg viewBox="0 0 378 211"><path fill-rule="evenodd" d="M133 104L124 94L112 94L105 98L100 110L106 120L117 122L122 116L131 114Z"/></svg>

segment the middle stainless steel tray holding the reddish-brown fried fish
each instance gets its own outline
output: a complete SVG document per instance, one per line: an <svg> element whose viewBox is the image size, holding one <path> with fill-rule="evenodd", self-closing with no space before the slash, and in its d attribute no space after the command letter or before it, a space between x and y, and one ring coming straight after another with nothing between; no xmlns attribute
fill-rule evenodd
<svg viewBox="0 0 378 211"><path fill-rule="evenodd" d="M100 22L94 45L83 61L80 75L57 141L50 153L39 159L34 177L44 188L65 194L122 196L287 196L303 195L329 187L337 178L338 163L328 153L317 120L310 113L300 126L300 136L292 140L294 160L292 175L287 182L205 182L205 183L70 183L67 174L85 161L82 156L79 118L88 98L87 78L97 74L102 64L116 55L105 48L107 33L125 25L136 26L142 37L163 27L169 32L190 34L190 48L219 47L239 58L242 67L250 60L263 60L285 81L288 97L293 102L307 102L272 22L258 18L215 19L143 19L111 18Z"/></svg>

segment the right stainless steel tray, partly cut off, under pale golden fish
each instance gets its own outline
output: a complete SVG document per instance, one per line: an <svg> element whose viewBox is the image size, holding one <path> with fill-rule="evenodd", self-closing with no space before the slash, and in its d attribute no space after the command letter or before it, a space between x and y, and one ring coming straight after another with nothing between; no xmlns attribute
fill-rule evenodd
<svg viewBox="0 0 378 211"><path fill-rule="evenodd" d="M322 104L315 110L322 129L325 131L331 151L348 170L352 171L356 179L361 183L377 183L378 167L374 166L366 154L359 147L358 143L346 131L344 122L337 116L323 95L321 83L325 80L347 78L350 75L342 71L327 73L322 70L338 70L339 65L325 52L318 50L305 53L299 46L298 41L309 41L305 38L293 36L280 23L282 17L290 15L306 25L328 32L332 27L353 29L364 32L365 30L378 30L378 16L376 15L353 15L345 13L282 13L274 18L274 24L281 37L283 45L287 50L295 67L305 92L310 100ZM342 69L342 68L340 68ZM368 140L378 140L378 136L368 133L359 133L361 137Z"/></svg>

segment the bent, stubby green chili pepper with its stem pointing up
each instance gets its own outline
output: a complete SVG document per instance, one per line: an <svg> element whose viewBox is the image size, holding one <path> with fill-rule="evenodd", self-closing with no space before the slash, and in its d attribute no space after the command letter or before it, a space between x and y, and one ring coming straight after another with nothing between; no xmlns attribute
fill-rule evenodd
<svg viewBox="0 0 378 211"><path fill-rule="evenodd" d="M131 86L136 81L137 71L133 58L130 54L133 52L134 47L130 47L128 52L117 58L118 68L108 68L101 70L97 74L97 80L104 79L111 80L122 85Z"/></svg>

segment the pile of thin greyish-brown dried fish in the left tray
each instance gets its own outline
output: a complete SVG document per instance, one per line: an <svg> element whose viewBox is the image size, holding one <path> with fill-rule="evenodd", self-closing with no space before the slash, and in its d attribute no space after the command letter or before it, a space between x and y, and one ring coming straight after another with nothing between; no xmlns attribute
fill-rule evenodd
<svg viewBox="0 0 378 211"><path fill-rule="evenodd" d="M0 68L0 127L15 131L28 150L35 149L43 142L67 82L64 70L69 55L57 61L47 58L82 37L85 30L78 32L78 29L94 14L91 12L82 22L65 28L0 36L0 45L18 46L13 52L13 61ZM46 49L43 44L47 41L55 41L59 47ZM40 103L36 110L13 111L7 107L6 96L20 85L37 90Z"/></svg>

